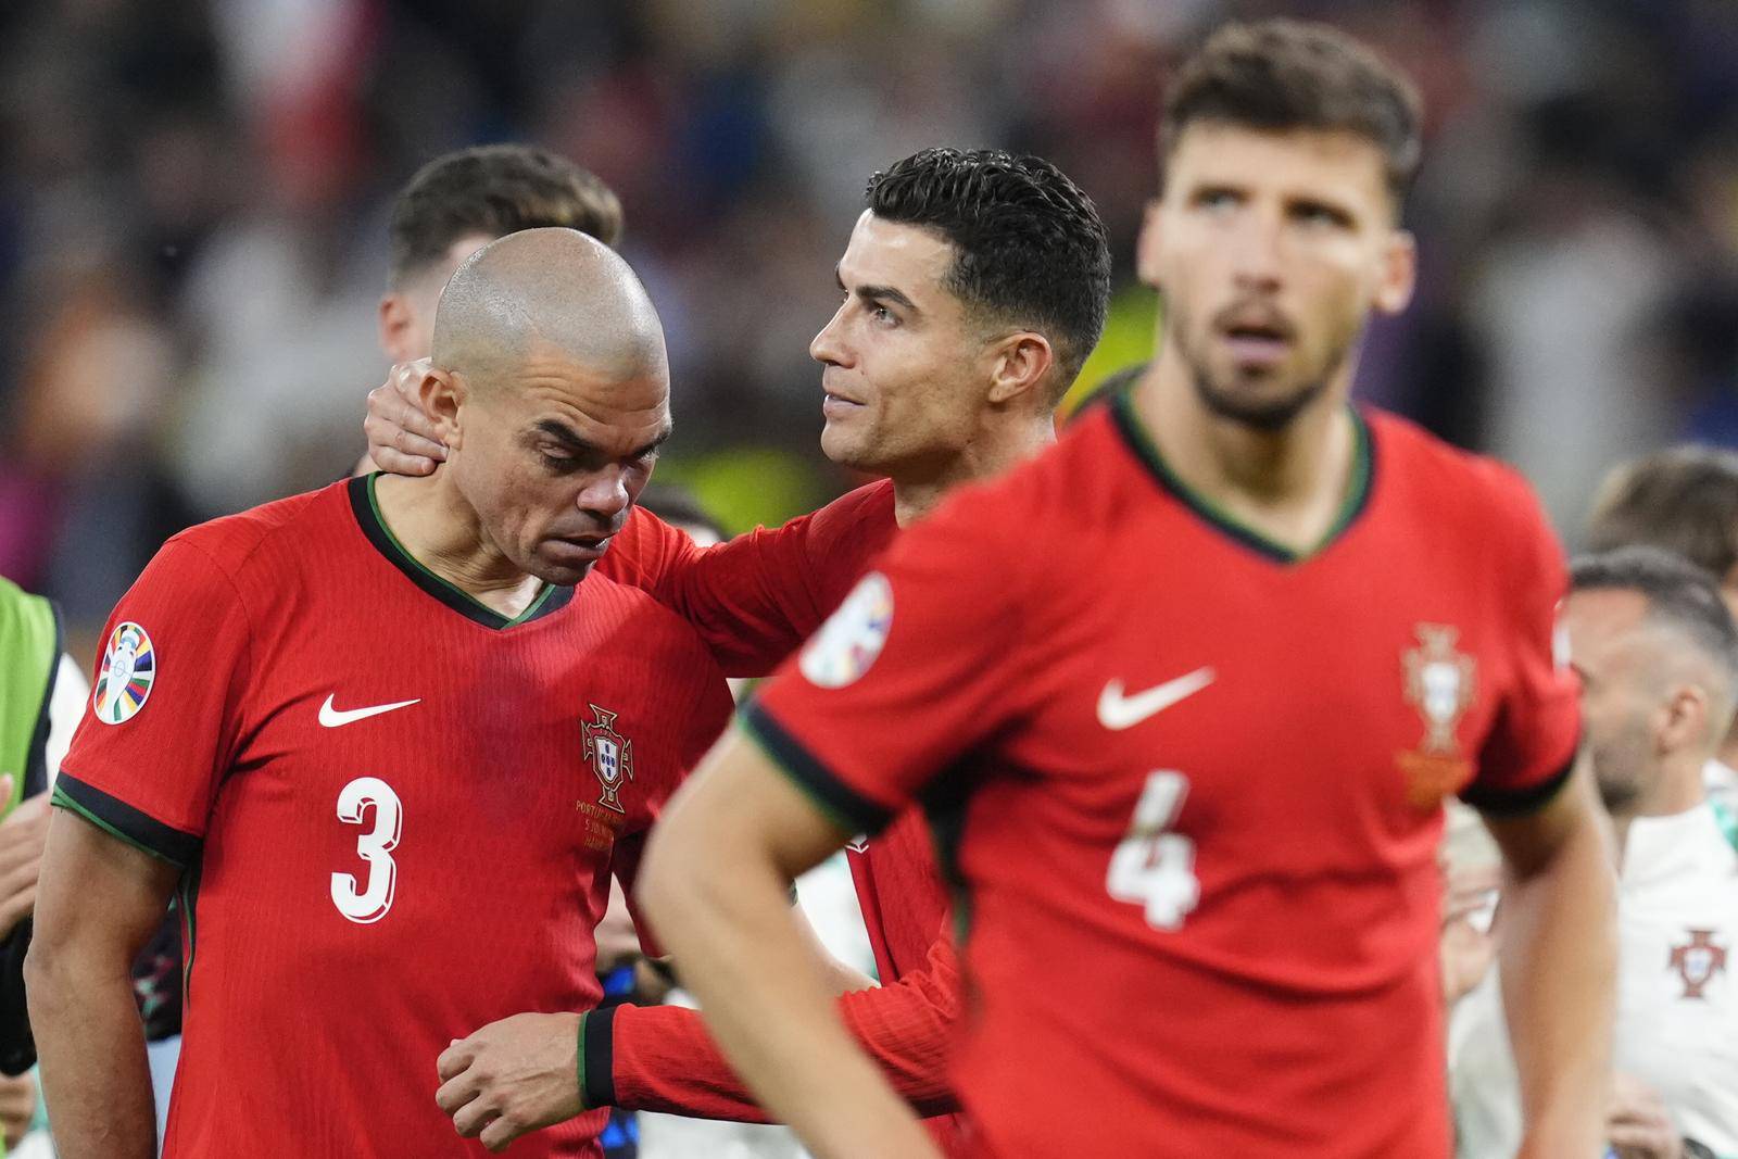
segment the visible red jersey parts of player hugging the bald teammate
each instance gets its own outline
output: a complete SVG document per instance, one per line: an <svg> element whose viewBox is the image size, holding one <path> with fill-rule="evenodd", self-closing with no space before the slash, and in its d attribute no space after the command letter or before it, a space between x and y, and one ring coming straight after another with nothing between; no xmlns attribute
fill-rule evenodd
<svg viewBox="0 0 1738 1159"><path fill-rule="evenodd" d="M897 530L886 480L713 547L636 511L598 568L688 619L732 676L765 676L820 627ZM940 1063L959 1010L958 968L945 937L947 890L921 810L907 810L874 841L853 841L846 858L881 980L902 983L899 992L848 997L846 1018L907 1098L945 1105ZM612 1017L614 1084L593 1074L591 1100L760 1117L695 1015L624 1008ZM949 1154L963 1154L951 1116L930 1128Z"/></svg>

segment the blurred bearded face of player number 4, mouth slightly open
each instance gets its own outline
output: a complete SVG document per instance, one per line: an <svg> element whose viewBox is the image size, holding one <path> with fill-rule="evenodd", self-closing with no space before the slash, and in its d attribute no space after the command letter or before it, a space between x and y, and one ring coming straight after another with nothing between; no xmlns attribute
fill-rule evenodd
<svg viewBox="0 0 1738 1159"><path fill-rule="evenodd" d="M1411 259L1375 144L1211 122L1184 130L1140 240L1201 401L1260 429L1350 374L1371 308L1411 295Z"/></svg>

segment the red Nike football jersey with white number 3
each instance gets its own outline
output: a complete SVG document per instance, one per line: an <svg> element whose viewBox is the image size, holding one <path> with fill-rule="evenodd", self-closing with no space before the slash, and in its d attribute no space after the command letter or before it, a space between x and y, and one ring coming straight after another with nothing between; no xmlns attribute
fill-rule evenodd
<svg viewBox="0 0 1738 1159"><path fill-rule="evenodd" d="M57 803L188 871L165 1154L487 1154L434 1060L598 1003L608 874L728 721L706 646L601 575L509 622L398 546L370 480L182 532L109 636ZM600 1154L601 1123L514 1154Z"/></svg>

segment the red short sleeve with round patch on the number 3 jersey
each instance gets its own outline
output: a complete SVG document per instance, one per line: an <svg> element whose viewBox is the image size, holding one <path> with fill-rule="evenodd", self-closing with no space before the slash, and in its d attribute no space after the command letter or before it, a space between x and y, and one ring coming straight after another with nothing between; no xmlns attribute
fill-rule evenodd
<svg viewBox="0 0 1738 1159"><path fill-rule="evenodd" d="M174 539L116 605L54 803L177 865L233 765L250 632L229 577Z"/></svg>

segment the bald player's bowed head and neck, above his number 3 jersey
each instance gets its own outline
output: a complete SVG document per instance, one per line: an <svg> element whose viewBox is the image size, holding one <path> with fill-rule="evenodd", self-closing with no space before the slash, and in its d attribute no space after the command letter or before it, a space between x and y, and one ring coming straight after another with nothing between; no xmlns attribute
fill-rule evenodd
<svg viewBox="0 0 1738 1159"><path fill-rule="evenodd" d="M577 584L667 438L669 370L626 262L572 229L490 243L447 283L419 398L447 464L384 478L381 511L441 577L516 615Z"/></svg>

